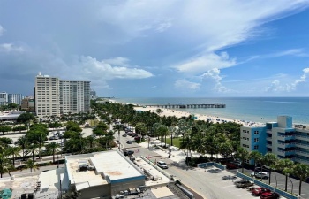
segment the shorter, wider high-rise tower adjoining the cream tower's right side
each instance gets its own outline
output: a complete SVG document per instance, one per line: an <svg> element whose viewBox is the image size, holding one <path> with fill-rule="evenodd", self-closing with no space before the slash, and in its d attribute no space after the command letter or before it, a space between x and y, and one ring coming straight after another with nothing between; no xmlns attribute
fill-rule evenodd
<svg viewBox="0 0 309 199"><path fill-rule="evenodd" d="M60 80L60 113L77 113L90 110L90 81Z"/></svg>

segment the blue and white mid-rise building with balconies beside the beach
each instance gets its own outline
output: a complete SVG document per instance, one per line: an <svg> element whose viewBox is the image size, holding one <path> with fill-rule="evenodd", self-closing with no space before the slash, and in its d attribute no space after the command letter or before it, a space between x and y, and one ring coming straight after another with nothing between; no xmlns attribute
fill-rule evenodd
<svg viewBox="0 0 309 199"><path fill-rule="evenodd" d="M240 145L249 152L271 152L279 158L309 164L309 129L293 126L290 116L278 116L276 122L265 126L241 126Z"/></svg>

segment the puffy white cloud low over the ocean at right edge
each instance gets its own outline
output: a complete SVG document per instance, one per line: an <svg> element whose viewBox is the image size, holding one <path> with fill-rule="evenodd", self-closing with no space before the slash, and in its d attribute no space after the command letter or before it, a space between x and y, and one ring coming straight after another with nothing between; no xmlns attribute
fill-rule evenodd
<svg viewBox="0 0 309 199"><path fill-rule="evenodd" d="M305 82L307 79L307 73L309 73L309 68L303 69L303 74L298 78L298 80L294 80L292 83L286 83L283 84L279 80L272 81L271 85L269 87L266 87L265 91L275 91L275 92L291 92L293 90L296 90L298 88L298 85L300 83Z"/></svg>

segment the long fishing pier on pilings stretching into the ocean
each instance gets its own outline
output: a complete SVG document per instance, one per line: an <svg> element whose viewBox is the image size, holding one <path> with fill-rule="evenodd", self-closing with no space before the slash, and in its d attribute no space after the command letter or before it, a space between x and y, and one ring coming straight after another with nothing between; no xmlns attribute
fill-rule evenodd
<svg viewBox="0 0 309 199"><path fill-rule="evenodd" d="M165 109L199 109L199 108L225 108L225 104L220 103L179 103L179 104L165 104L165 105L144 105L144 107L165 108Z"/></svg>

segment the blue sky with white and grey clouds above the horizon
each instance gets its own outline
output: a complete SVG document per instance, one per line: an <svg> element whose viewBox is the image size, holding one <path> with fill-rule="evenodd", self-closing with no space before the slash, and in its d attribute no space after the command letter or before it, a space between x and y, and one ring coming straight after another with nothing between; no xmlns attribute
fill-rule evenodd
<svg viewBox="0 0 309 199"><path fill-rule="evenodd" d="M0 0L0 91L309 96L309 0Z"/></svg>

